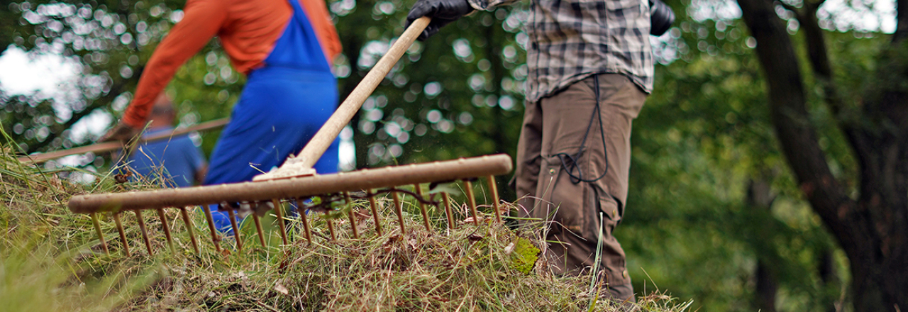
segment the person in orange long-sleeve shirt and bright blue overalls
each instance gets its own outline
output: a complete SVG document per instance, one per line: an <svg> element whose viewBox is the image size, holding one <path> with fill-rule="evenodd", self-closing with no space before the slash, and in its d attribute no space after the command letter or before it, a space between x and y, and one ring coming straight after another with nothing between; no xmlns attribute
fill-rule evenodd
<svg viewBox="0 0 908 312"><path fill-rule="evenodd" d="M252 180L301 151L338 102L331 60L341 44L324 1L188 0L183 12L145 65L123 119L103 140L129 140L139 132L177 68L217 36L247 81L204 184ZM334 141L314 167L331 173L337 165ZM230 229L224 214L215 219L219 229Z"/></svg>

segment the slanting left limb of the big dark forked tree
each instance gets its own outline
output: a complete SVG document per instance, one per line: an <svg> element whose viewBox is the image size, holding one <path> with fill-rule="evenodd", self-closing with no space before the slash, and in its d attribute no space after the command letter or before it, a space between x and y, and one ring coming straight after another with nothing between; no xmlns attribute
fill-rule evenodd
<svg viewBox="0 0 908 312"><path fill-rule="evenodd" d="M737 2L745 24L757 42L756 54L769 86L772 122L785 158L814 211L837 233L836 238L846 252L854 252L860 242L850 235L854 229L846 224L845 218L854 210L856 203L845 195L834 179L826 163L826 154L817 142L817 134L806 109L804 80L799 71L797 54L785 25L775 18L771 2Z"/></svg>

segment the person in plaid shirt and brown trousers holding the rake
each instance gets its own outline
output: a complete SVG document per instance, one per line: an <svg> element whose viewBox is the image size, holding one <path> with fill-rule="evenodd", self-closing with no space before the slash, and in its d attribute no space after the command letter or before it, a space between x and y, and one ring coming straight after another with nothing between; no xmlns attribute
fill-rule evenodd
<svg viewBox="0 0 908 312"><path fill-rule="evenodd" d="M463 15L516 1L419 0L407 20L432 18L425 40ZM545 250L549 268L593 272L617 300L636 301L612 232L627 200L631 123L653 90L648 35L673 21L667 5L644 0L531 0L518 215L546 220L546 239L559 242Z"/></svg>

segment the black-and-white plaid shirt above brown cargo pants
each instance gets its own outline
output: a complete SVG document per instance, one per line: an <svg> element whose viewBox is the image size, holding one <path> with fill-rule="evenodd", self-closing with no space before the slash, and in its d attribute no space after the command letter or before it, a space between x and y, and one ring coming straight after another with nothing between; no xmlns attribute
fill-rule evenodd
<svg viewBox="0 0 908 312"><path fill-rule="evenodd" d="M468 0L490 10L518 0ZM646 0L531 0L527 100L537 102L595 73L621 73L653 90Z"/></svg>

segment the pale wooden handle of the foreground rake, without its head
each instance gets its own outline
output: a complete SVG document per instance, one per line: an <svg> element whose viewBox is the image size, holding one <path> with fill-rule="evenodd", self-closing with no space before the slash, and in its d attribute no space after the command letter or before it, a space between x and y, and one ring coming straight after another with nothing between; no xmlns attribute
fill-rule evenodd
<svg viewBox="0 0 908 312"><path fill-rule="evenodd" d="M347 96L347 99L341 102L337 111L331 114L328 122L321 126L319 132L315 133L315 136L312 137L299 154L288 158L277 171L273 171L271 174L258 175L253 180L286 179L313 173L311 168L316 161L319 161L321 154L328 150L331 142L337 138L338 134L341 134L343 127L353 119L356 112L360 111L362 103L366 102L366 99L375 91L379 83L390 73L394 64L400 60L400 56L407 49L410 49L410 45L416 41L422 30L429 25L429 20L429 17L420 17L413 21L413 24L410 24L410 27L407 27L403 34L400 34L400 38L394 44L391 44L388 52L381 56L375 66L372 66L372 69L362 78L360 84L357 84L356 88Z"/></svg>

